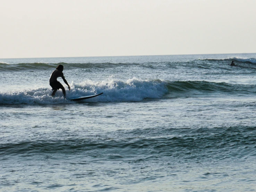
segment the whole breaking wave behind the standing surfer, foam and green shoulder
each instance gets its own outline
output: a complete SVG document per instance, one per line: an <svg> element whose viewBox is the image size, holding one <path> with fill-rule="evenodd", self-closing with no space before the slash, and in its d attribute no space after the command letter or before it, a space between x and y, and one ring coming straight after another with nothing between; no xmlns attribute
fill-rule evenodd
<svg viewBox="0 0 256 192"><path fill-rule="evenodd" d="M94 82L83 81L79 84L71 83L71 90L67 91L67 98L82 97L104 93L98 97L86 99L86 102L140 102L146 98L165 99L164 95L186 96L204 95L209 93L248 94L256 93L256 85L234 85L224 82L207 81L164 81L142 80L137 78L121 80L105 80ZM60 104L72 103L63 98L62 91L57 91L51 97L50 88L37 88L18 91L0 91L0 104Z"/></svg>

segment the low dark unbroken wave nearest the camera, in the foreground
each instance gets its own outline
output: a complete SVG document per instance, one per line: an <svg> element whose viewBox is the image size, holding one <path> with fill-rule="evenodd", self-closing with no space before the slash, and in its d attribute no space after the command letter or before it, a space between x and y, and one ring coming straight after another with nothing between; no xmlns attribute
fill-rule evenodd
<svg viewBox="0 0 256 192"><path fill-rule="evenodd" d="M138 136L137 131L142 133L142 129L135 129L118 134L117 137L97 137L94 138L56 138L49 136L41 139L24 139L21 141L10 142L3 140L0 145L0 155L26 154L33 155L39 153L83 153L92 151L93 153L102 153L111 155L118 149L120 152L117 158L128 154L146 153L152 156L173 156L180 158L197 159L202 158L200 155L188 155L202 153L208 158L232 158L235 156L255 156L255 127L239 126L239 127L215 127L212 129L200 128L185 130L183 134L179 134L177 129L157 129L152 132L143 130L142 137ZM170 135L171 133L171 135ZM185 133L185 134L184 134ZM183 135L183 136L181 136ZM127 136L130 136L127 138ZM233 146L236 146L234 148ZM216 150L219 149L219 153ZM221 149L221 150L220 150ZM103 157L103 156L102 156ZM104 157L105 158L105 157ZM111 157L112 158L112 157Z"/></svg>

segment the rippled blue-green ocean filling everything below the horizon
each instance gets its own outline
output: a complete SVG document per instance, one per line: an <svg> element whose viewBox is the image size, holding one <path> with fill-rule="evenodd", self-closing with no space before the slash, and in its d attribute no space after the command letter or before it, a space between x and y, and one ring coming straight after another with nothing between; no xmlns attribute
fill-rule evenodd
<svg viewBox="0 0 256 192"><path fill-rule="evenodd" d="M58 64L67 98L103 94L51 97ZM256 53L0 59L0 191L256 191L255 73Z"/></svg>

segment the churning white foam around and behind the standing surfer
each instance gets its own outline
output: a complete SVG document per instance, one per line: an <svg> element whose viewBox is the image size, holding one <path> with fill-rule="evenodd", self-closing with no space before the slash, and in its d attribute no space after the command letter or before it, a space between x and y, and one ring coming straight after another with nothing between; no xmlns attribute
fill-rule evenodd
<svg viewBox="0 0 256 192"><path fill-rule="evenodd" d="M141 80L137 78L127 81L109 79L101 82L91 80L80 84L71 83L71 89L66 89L67 98L104 94L87 99L86 102L138 102L145 98L161 98L168 92L167 83L161 80ZM59 90L51 97L50 88L37 88L19 91L0 91L0 104L58 104L72 103L63 98Z"/></svg>

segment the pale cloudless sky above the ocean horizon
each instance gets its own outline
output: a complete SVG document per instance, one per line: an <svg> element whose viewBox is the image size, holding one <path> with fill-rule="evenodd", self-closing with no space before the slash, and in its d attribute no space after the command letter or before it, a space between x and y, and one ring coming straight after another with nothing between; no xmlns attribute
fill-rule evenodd
<svg viewBox="0 0 256 192"><path fill-rule="evenodd" d="M256 0L0 0L0 58L256 53Z"/></svg>

